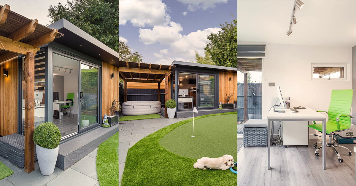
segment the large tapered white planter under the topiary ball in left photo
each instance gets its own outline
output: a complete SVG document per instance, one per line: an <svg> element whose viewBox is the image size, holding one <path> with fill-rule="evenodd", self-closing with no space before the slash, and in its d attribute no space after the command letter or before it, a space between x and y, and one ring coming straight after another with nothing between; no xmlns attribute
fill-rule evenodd
<svg viewBox="0 0 356 186"><path fill-rule="evenodd" d="M58 156L58 147L54 149L46 149L36 145L36 153L41 174L45 176L53 174Z"/></svg>

